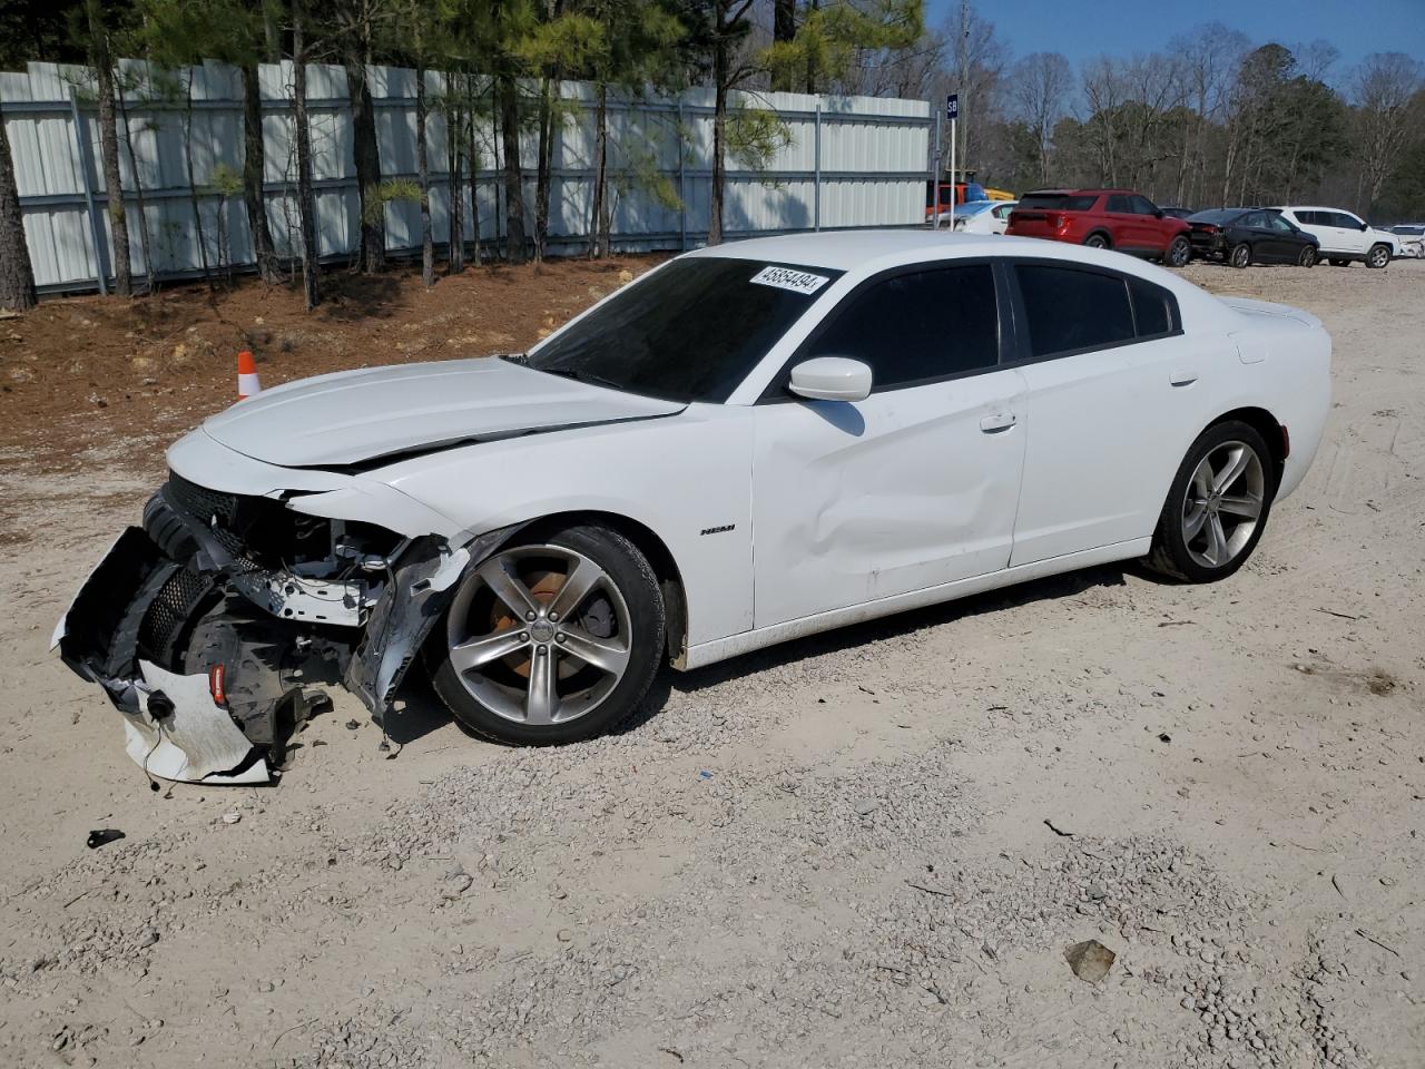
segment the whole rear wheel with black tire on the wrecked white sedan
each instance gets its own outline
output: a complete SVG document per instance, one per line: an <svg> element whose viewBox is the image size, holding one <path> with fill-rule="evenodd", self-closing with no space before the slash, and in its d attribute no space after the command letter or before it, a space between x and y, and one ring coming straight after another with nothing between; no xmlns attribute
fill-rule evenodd
<svg viewBox="0 0 1425 1069"><path fill-rule="evenodd" d="M1244 458L1240 472L1218 485L1238 456ZM1147 566L1187 583L1227 579L1257 549L1275 493L1277 469L1261 435L1235 419L1214 423L1197 436L1173 476Z"/></svg>

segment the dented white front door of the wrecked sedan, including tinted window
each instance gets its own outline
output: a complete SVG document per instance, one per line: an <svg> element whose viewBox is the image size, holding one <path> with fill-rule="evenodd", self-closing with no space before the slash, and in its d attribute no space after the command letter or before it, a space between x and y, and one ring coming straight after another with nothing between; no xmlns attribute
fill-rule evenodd
<svg viewBox="0 0 1425 1069"><path fill-rule="evenodd" d="M1025 455L1025 381L1000 368L988 262L881 275L849 294L754 416L757 627L1009 563ZM865 401L788 393L791 366L851 356Z"/></svg>

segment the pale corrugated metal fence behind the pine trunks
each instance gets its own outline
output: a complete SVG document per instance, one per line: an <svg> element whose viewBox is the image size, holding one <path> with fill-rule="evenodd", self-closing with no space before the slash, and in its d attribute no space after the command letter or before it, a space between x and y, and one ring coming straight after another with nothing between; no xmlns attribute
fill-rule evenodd
<svg viewBox="0 0 1425 1069"><path fill-rule="evenodd" d="M201 269L204 252L219 262L219 229L232 264L252 262L241 195L211 187L214 168L242 167L241 80L232 67L205 63L160 71L123 60L120 81L127 135L120 123L120 160L130 218L130 257L135 277L144 261L147 229L152 269L174 277ZM274 241L286 255L296 241L291 88L292 66L259 68L266 154L266 202ZM376 135L385 177L415 178L415 71L370 70ZM432 101L445 78L428 73ZM590 229L594 157L594 90L563 83L563 107L553 160L550 238L553 251L584 245ZM737 237L838 227L911 225L923 218L931 118L919 100L814 97L795 93L732 94L734 107L777 111L791 130L771 167L751 171L728 160L724 232ZM358 244L352 124L345 68L308 67L314 172L321 252L339 257ZM191 104L190 104L191 100ZM691 248L708 228L712 185L712 91L693 88L678 98L610 98L608 168L614 244L628 249ZM36 281L41 288L84 288L108 271L111 249L100 167L94 80L84 67L31 63L24 73L0 73L0 115L13 147ZM439 107L428 123L432 222L437 241L449 229L446 125ZM479 218L482 238L503 227L496 171L496 137L486 121L477 130L482 155ZM188 168L200 185L204 241L190 200ZM536 141L522 137L527 227L533 229ZM137 175L135 175L137 171ZM137 177L137 181L135 181ZM87 180L87 181L86 181ZM654 187L664 195L656 195ZM205 188L208 187L208 188ZM469 187L466 187L467 190ZM138 200L142 197L142 214ZM221 227L219 227L221 217ZM466 210L466 238L473 237ZM386 241L393 251L419 245L413 202L386 205Z"/></svg>

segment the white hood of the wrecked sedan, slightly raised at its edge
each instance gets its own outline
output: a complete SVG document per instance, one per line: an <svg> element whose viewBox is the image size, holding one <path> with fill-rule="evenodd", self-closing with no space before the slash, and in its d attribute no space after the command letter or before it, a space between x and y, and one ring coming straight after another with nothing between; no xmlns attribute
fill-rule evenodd
<svg viewBox="0 0 1425 1069"><path fill-rule="evenodd" d="M289 382L209 418L204 430L284 468L569 426L651 419L684 405L546 375L502 359L408 363Z"/></svg>

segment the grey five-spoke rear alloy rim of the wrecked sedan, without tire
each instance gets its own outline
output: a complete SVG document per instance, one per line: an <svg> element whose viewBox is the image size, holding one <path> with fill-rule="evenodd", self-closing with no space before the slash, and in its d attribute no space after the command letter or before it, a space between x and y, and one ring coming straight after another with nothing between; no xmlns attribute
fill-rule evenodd
<svg viewBox="0 0 1425 1069"><path fill-rule="evenodd" d="M1257 450L1223 442L1198 462L1183 500L1183 542L1193 560L1223 567L1235 560L1261 520L1267 477Z"/></svg>

